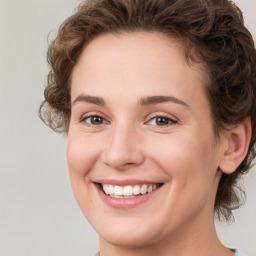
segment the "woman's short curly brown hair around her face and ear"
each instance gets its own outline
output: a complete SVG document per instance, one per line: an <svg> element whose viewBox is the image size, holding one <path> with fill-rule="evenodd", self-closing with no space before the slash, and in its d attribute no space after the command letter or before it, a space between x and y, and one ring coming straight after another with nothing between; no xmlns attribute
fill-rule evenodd
<svg viewBox="0 0 256 256"><path fill-rule="evenodd" d="M223 174L215 213L230 219L241 205L237 181L256 153L256 50L241 10L229 0L89 0L60 26L48 49L51 70L39 109L54 131L68 133L72 71L84 47L106 33L159 32L180 40L189 62L206 67L206 95L216 135L251 118L248 153L232 174ZM238 189L237 189L238 188Z"/></svg>

